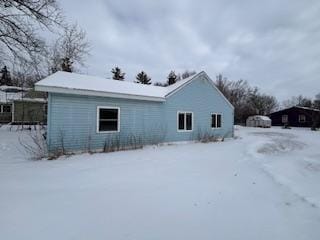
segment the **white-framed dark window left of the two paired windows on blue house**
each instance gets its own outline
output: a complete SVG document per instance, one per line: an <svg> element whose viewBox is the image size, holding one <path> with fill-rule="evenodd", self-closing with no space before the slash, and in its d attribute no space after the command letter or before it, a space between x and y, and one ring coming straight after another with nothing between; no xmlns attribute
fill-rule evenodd
<svg viewBox="0 0 320 240"><path fill-rule="evenodd" d="M98 132L119 131L119 108L98 107Z"/></svg>

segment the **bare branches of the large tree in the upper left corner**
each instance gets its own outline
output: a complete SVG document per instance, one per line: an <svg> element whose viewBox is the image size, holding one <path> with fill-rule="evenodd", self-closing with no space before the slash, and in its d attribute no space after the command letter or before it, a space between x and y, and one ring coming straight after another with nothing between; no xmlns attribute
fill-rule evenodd
<svg viewBox="0 0 320 240"><path fill-rule="evenodd" d="M54 31L63 18L55 0L0 1L0 52L9 59L32 61L43 53L45 43L39 36L43 28Z"/></svg>

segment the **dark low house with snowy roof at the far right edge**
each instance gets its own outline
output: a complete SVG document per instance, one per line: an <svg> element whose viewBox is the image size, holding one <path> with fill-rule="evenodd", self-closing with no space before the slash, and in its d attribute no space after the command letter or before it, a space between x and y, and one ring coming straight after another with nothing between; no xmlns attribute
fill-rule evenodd
<svg viewBox="0 0 320 240"><path fill-rule="evenodd" d="M294 106L273 112L270 115L273 126L319 127L320 110Z"/></svg>

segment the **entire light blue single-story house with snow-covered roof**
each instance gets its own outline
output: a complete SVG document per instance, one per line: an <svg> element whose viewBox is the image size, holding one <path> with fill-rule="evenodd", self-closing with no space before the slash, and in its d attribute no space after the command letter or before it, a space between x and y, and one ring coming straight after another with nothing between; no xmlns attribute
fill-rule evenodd
<svg viewBox="0 0 320 240"><path fill-rule="evenodd" d="M233 136L234 108L205 72L167 87L57 72L35 89L48 92L49 151Z"/></svg>

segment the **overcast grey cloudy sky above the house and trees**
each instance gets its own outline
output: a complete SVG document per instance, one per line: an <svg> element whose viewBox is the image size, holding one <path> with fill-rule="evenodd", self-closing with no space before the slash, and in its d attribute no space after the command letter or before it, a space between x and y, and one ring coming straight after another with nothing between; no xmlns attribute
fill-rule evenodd
<svg viewBox="0 0 320 240"><path fill-rule="evenodd" d="M60 0L91 43L81 71L133 81L173 69L245 79L279 100L320 92L319 0Z"/></svg>

